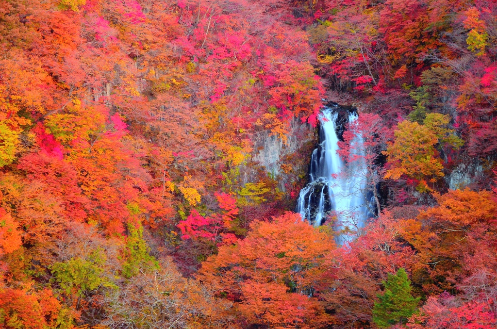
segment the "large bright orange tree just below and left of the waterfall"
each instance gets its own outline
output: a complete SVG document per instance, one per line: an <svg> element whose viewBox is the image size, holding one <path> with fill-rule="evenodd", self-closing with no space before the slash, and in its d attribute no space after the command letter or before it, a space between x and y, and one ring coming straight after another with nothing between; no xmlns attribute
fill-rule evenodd
<svg viewBox="0 0 497 329"><path fill-rule="evenodd" d="M238 309L249 323L272 328L326 323L324 309L312 296L334 248L332 237L293 213L250 227L236 246L220 247L209 257L198 278L240 301Z"/></svg>

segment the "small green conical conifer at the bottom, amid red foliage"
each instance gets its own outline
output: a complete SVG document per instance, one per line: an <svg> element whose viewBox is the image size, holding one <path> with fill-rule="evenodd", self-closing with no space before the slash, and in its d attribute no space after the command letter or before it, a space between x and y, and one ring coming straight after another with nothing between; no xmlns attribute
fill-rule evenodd
<svg viewBox="0 0 497 329"><path fill-rule="evenodd" d="M397 323L406 323L416 311L419 297L411 295L411 281L406 270L399 268L395 275L389 274L387 282L383 281L385 293L378 295L379 303L373 308L373 321L380 328L388 328Z"/></svg>

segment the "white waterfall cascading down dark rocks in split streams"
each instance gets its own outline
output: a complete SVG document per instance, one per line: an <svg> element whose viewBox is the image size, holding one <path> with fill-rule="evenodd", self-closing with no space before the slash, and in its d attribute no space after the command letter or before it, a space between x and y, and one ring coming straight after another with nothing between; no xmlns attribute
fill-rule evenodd
<svg viewBox="0 0 497 329"><path fill-rule="evenodd" d="M370 198L364 159L358 157L345 164L336 153L343 121L353 124L357 119L355 112L339 110L338 105L325 107L320 114L320 143L312 153L309 183L300 191L297 212L316 227L323 225L329 215L336 216L336 229L343 232L337 238L341 245L365 226L371 208L366 205ZM361 136L356 136L352 143L355 150L362 152Z"/></svg>

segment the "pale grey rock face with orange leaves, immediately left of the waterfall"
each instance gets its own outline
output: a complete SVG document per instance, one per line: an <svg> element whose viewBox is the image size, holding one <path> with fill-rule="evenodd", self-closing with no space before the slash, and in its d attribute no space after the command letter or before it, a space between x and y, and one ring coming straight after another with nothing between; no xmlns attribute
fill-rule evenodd
<svg viewBox="0 0 497 329"><path fill-rule="evenodd" d="M317 129L294 118L286 136L288 140L284 143L267 130L255 134L253 153L242 170L244 182L255 181L256 176L265 171L278 180L282 191L300 180L305 184L311 152L318 140Z"/></svg>

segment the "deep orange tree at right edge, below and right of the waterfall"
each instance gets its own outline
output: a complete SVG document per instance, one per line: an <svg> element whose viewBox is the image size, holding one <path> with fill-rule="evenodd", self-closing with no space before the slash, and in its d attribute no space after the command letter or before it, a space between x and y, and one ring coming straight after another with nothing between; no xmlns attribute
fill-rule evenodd
<svg viewBox="0 0 497 329"><path fill-rule="evenodd" d="M437 196L437 201L439 206L422 211L415 220L405 220L401 232L419 257L415 266L419 283L427 291L443 291L476 269L495 271L497 204L493 195L455 190Z"/></svg>

